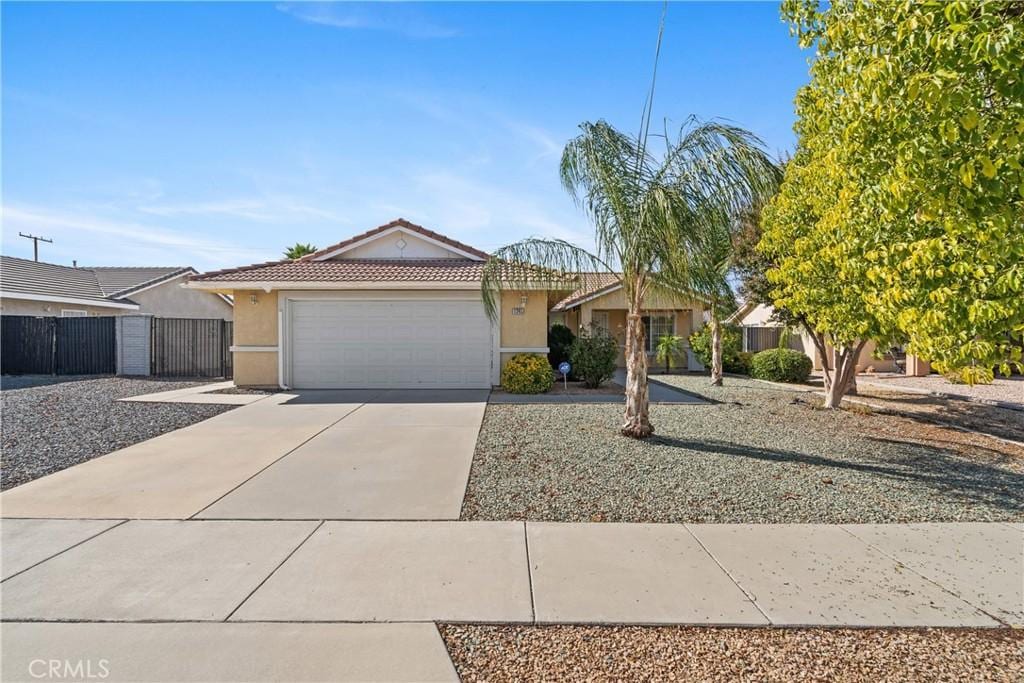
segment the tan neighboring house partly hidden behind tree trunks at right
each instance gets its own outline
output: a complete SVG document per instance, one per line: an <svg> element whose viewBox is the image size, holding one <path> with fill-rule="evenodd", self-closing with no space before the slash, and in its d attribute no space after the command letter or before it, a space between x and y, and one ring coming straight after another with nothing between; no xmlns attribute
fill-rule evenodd
<svg viewBox="0 0 1024 683"><path fill-rule="evenodd" d="M775 310L768 304L748 302L729 316L728 323L739 326L743 339L744 351L763 351L778 345L783 331L781 323L775 319ZM787 346L803 351L814 361L814 370L821 370L821 353L818 351L810 335L803 329L792 330ZM912 354L895 349L876 356L874 342L867 342L857 358L857 372L889 373L903 370L907 375L924 376L932 371L931 365ZM830 352L830 351L829 351Z"/></svg>

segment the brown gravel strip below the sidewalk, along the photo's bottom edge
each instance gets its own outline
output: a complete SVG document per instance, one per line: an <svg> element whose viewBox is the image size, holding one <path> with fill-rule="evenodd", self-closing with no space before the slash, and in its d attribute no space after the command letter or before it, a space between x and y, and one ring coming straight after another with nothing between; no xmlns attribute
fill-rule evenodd
<svg viewBox="0 0 1024 683"><path fill-rule="evenodd" d="M1009 630L439 627L463 681L1020 681Z"/></svg>

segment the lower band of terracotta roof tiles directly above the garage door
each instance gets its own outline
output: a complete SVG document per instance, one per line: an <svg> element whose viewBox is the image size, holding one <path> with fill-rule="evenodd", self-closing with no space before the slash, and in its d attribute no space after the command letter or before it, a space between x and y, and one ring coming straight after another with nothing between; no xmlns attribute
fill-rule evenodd
<svg viewBox="0 0 1024 683"><path fill-rule="evenodd" d="M339 259L257 263L242 268L215 270L194 281L226 283L356 283L356 282L479 282L482 261L439 259Z"/></svg>

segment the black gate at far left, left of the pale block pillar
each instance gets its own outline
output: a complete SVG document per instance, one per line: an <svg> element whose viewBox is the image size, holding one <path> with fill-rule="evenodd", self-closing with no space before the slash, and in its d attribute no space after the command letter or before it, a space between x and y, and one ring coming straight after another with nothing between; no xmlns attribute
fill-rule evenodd
<svg viewBox="0 0 1024 683"><path fill-rule="evenodd" d="M112 375L114 317L0 317L0 371L7 375Z"/></svg>

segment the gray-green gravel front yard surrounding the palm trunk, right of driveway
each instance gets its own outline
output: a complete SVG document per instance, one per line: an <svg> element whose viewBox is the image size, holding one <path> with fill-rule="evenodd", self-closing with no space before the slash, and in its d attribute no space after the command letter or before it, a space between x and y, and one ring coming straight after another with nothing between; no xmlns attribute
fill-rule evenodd
<svg viewBox="0 0 1024 683"><path fill-rule="evenodd" d="M811 394L662 378L715 403L653 405L654 438L618 404L488 405L464 519L844 523L1024 521L1024 449Z"/></svg>

